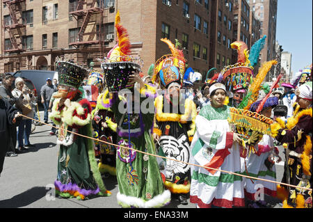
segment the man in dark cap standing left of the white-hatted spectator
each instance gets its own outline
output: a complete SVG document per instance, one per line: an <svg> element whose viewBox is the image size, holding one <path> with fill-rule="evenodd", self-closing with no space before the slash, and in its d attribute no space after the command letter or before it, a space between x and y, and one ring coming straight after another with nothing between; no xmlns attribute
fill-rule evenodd
<svg viewBox="0 0 313 222"><path fill-rule="evenodd" d="M2 85L0 86L0 96L3 100L6 100L10 103L10 105L19 105L19 100L16 100L15 97L12 95L12 84L14 81L14 77L10 73L6 73L3 75ZM10 145L8 146L8 152L6 153L7 157L16 157L17 154L15 153L15 146L17 143L17 131L16 125L9 125L9 138L10 138Z"/></svg>

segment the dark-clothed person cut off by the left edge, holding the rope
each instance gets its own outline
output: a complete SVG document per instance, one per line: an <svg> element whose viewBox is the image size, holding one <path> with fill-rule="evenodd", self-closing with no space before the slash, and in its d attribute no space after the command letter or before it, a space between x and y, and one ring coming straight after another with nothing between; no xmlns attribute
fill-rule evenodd
<svg viewBox="0 0 313 222"><path fill-rule="evenodd" d="M19 112L8 100L0 96L0 174L3 169L4 158L10 146L10 128L19 120ZM16 155L16 154L15 154Z"/></svg>

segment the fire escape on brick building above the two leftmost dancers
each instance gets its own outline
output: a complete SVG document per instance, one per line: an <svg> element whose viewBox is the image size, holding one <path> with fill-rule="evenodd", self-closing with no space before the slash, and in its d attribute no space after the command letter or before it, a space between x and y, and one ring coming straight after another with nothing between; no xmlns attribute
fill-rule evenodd
<svg viewBox="0 0 313 222"><path fill-rule="evenodd" d="M97 36L100 36L99 30L97 30L97 24L101 27L103 22L103 10L101 6L95 6L96 3L97 0L79 0L76 10L70 12L71 15L76 16L77 26L80 27L77 41L70 42L70 45L79 47L101 43L99 38L97 38ZM84 7L84 5L86 6ZM97 22L97 16L100 22Z"/></svg>

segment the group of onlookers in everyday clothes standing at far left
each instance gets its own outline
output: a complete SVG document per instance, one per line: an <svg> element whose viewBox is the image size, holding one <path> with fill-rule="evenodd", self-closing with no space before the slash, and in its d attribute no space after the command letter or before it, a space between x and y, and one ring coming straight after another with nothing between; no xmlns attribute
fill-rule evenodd
<svg viewBox="0 0 313 222"><path fill-rule="evenodd" d="M44 121L48 123L48 110L49 105L51 106L50 100L52 94L56 92L57 86L57 79L54 79L52 82L50 78L47 78L46 84L40 89L40 96L35 97L35 92L26 86L23 78L15 78L10 73L2 74L0 78L1 100L8 102L18 113L23 115L14 123L11 122L10 124L10 121L8 121L8 126L6 126L8 143L2 143L3 145L1 145L1 152L6 150L6 157L16 157L17 154L22 154L29 148L35 148L35 145L31 144L29 136L32 132L32 125L33 127L35 125L42 125L35 121L39 120L38 104L41 102L44 107ZM5 108L3 110L8 109L8 107L3 108ZM34 121L30 118L33 118ZM50 135L54 134L55 130L52 128Z"/></svg>

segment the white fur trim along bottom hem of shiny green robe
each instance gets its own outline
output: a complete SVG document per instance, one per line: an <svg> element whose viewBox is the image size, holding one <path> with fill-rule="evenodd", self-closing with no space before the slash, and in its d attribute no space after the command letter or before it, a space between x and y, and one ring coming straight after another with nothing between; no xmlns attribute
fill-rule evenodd
<svg viewBox="0 0 313 222"><path fill-rule="evenodd" d="M126 196L120 192L118 192L116 198L118 199L118 203L120 202L129 206L137 206L139 208L162 207L170 201L170 191L165 190L163 193L148 201L141 198L135 198L134 196Z"/></svg>

